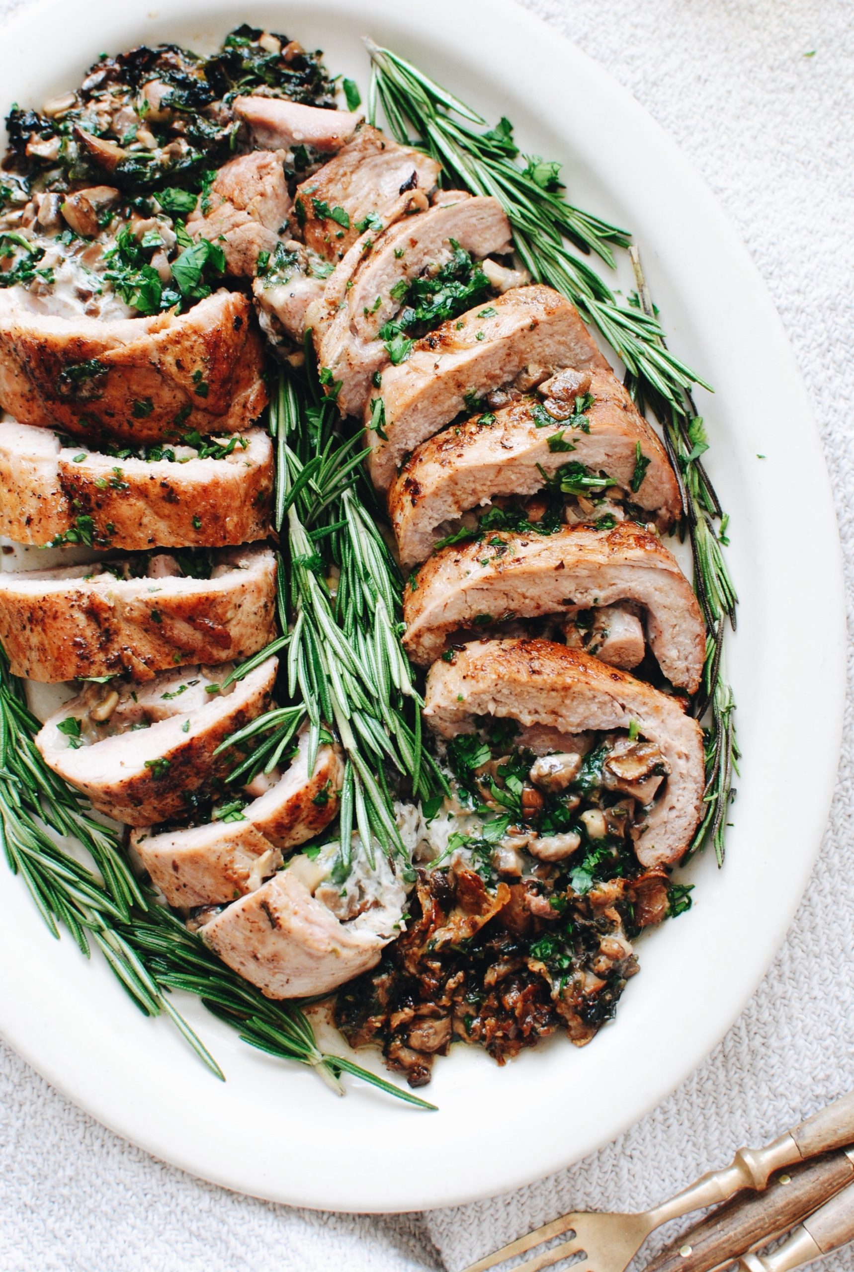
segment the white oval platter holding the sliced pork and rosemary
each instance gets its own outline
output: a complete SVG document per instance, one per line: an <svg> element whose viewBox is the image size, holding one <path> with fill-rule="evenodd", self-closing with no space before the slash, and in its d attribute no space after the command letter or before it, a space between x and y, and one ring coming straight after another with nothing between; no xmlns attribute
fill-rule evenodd
<svg viewBox="0 0 854 1272"><path fill-rule="evenodd" d="M512 0L154 5L24 10L0 29L4 112L78 84L102 50L176 41L205 51L247 20L323 48L364 97L360 37L370 34L489 120L507 114L523 150L563 160L573 202L634 232L672 347L717 389L700 398L741 594L728 655L743 750L734 824L724 869L710 852L691 868L692 912L641 943L641 973L592 1046L556 1040L504 1068L454 1047L425 1091L439 1112L421 1113L355 1081L336 1100L313 1074L252 1051L182 1001L223 1084L165 1021L135 1010L106 965L67 937L53 941L0 865L0 1032L106 1126L271 1201L395 1211L495 1194L578 1160L673 1090L743 1007L807 884L844 697L839 541L809 404L764 285L708 188L601 66ZM629 290L629 276L619 285ZM804 488L806 522L795 518Z"/></svg>

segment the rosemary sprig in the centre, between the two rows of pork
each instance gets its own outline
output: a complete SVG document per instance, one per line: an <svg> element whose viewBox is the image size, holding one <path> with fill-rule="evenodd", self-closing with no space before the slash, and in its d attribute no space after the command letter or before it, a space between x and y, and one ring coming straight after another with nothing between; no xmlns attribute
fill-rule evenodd
<svg viewBox="0 0 854 1272"><path fill-rule="evenodd" d="M365 452L356 449L358 435L341 438L339 426L311 361L300 383L280 374L270 431L276 529L288 528L280 619L288 630L286 693L294 705L274 709L229 743L267 734L232 775L246 781L275 766L305 715L309 764L321 730L335 729L346 756L336 864L336 875L345 878L354 824L372 866L374 840L409 866L387 767L410 784L416 799L444 790L445 780L421 747L423 700L401 645L402 580L367 502L373 496L363 473Z"/></svg>

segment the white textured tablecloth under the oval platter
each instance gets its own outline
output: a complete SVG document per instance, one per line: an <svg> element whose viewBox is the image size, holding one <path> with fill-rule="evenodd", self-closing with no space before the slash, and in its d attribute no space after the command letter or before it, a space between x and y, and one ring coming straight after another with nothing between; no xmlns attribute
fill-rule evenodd
<svg viewBox="0 0 854 1272"><path fill-rule="evenodd" d="M676 137L746 240L815 403L850 588L854 4L524 3L603 62ZM0 0L0 14L13 8ZM809 491L792 511L809 515ZM154 1161L0 1048L0 1272L456 1272L532 1224L582 1206L647 1206L739 1144L770 1138L854 1085L853 761L849 735L820 862L748 1009L687 1082L602 1152L459 1210L388 1219L294 1211ZM854 1254L826 1267L850 1272Z"/></svg>

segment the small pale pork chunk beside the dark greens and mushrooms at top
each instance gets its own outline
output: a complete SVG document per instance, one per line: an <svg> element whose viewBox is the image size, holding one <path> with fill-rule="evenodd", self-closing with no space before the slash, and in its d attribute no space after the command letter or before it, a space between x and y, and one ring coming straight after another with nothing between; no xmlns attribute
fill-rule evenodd
<svg viewBox="0 0 854 1272"><path fill-rule="evenodd" d="M267 150L230 159L216 174L204 207L200 202L187 220L196 240L205 238L223 248L228 273L255 277L258 253L276 251L290 211L283 159L281 153Z"/></svg>

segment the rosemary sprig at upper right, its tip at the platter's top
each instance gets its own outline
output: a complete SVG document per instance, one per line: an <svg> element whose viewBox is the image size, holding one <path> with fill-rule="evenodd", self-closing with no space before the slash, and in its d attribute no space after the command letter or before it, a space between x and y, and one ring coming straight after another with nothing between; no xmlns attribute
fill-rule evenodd
<svg viewBox="0 0 854 1272"><path fill-rule="evenodd" d="M569 296L643 385L677 408L692 384L709 388L667 349L654 313L617 301L601 275L566 244L569 239L582 252L594 252L613 267L611 244L629 247L629 232L566 202L560 193L559 164L536 155L527 158L524 168L517 163L519 151L508 120L487 128L476 111L411 62L370 39L365 45L373 62L372 120L382 106L398 141L420 144L452 182L462 183L475 195L496 198L513 226L515 249L531 276Z"/></svg>

